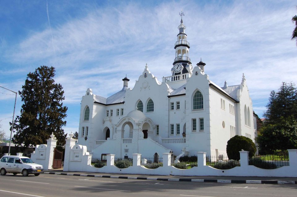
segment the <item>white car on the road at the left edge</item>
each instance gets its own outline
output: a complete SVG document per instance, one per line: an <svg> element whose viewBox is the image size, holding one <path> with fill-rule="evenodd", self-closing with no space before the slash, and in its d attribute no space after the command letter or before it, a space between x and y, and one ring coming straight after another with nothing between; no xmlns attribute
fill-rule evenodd
<svg viewBox="0 0 297 197"><path fill-rule="evenodd" d="M43 166L34 163L29 157L4 155L0 160L0 174L10 172L14 175L21 173L23 176L43 173Z"/></svg>

